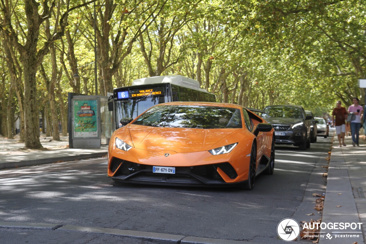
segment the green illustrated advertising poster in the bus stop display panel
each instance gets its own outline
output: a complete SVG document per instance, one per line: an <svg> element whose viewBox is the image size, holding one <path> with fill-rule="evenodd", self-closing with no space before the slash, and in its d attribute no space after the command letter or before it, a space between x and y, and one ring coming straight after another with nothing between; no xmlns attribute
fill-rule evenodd
<svg viewBox="0 0 366 244"><path fill-rule="evenodd" d="M98 137L97 100L74 101L74 137Z"/></svg>

